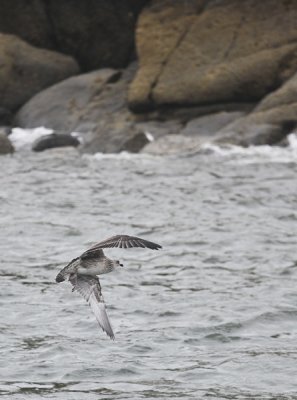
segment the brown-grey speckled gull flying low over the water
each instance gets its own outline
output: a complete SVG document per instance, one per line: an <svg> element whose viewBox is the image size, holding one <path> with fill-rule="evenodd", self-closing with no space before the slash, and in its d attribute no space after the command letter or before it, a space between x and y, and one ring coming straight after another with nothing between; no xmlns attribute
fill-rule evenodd
<svg viewBox="0 0 297 400"><path fill-rule="evenodd" d="M95 317L104 332L114 339L114 333L110 325L105 304L101 292L100 281L97 275L106 274L117 267L123 267L118 260L111 260L105 256L102 249L120 247L143 247L159 250L159 244L140 239L135 236L116 235L103 242L96 243L81 256L74 258L56 276L56 282L60 283L68 278L73 288L72 291L79 292L89 303Z"/></svg>

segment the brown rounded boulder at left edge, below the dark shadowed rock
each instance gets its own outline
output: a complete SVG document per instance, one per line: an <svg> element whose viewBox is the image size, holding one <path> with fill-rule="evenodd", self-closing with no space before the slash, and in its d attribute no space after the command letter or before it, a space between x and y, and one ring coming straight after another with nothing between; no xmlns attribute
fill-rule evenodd
<svg viewBox="0 0 297 400"><path fill-rule="evenodd" d="M78 73L76 61L0 34L0 106L16 110L40 90Z"/></svg>

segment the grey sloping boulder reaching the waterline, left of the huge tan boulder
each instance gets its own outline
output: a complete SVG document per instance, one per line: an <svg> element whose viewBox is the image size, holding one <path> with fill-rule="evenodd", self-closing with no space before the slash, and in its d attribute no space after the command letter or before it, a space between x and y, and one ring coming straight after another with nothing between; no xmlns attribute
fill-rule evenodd
<svg viewBox="0 0 297 400"><path fill-rule="evenodd" d="M82 150L87 152L132 148L129 140L141 132L126 102L134 70L132 66L122 74L102 69L66 79L34 96L16 114L14 123L22 128L80 132ZM136 147L142 142L138 140Z"/></svg>

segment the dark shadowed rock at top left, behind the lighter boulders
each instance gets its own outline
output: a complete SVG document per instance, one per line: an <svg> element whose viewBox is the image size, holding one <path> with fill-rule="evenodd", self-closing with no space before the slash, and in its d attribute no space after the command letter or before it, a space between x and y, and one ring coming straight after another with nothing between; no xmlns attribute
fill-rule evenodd
<svg viewBox="0 0 297 400"><path fill-rule="evenodd" d="M83 70L126 66L137 16L148 0L0 2L0 30L75 57Z"/></svg>

